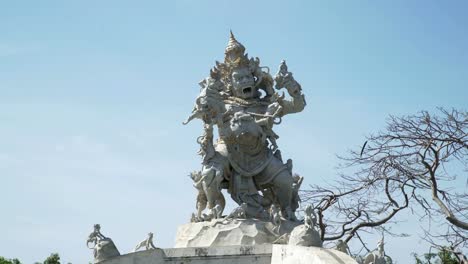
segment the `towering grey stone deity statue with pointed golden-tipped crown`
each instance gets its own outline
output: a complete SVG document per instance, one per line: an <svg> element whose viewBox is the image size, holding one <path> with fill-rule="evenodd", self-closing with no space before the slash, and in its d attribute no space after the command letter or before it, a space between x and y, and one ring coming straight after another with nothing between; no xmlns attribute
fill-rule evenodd
<svg viewBox="0 0 468 264"><path fill-rule="evenodd" d="M273 126L283 116L302 111L306 102L286 62L281 62L273 78L258 58L248 57L231 32L224 62L216 62L200 86L193 112L184 122L198 118L204 124L203 135L197 139L202 169L191 174L199 191L192 220L222 215L223 188L247 218L268 219L274 206L284 219L296 220L298 197L293 186L297 180L292 175L292 161L281 156ZM283 88L289 96L280 95ZM209 213L203 215L205 208Z"/></svg>

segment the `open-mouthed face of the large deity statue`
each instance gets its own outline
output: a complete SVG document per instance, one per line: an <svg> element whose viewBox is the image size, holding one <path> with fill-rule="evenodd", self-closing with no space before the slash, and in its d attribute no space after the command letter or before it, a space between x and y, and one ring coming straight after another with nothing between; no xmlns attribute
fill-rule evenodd
<svg viewBox="0 0 468 264"><path fill-rule="evenodd" d="M236 69L232 72L232 92L242 99L253 98L257 94L255 78L248 68Z"/></svg>

